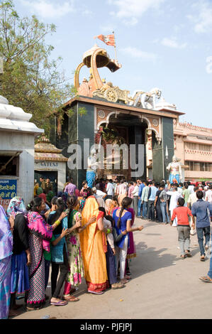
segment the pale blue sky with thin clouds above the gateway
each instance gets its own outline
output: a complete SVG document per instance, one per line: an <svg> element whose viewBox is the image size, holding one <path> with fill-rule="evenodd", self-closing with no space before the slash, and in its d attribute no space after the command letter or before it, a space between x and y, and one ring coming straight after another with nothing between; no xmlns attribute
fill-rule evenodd
<svg viewBox="0 0 212 334"><path fill-rule="evenodd" d="M211 128L212 0L14 0L20 16L35 14L55 23L46 42L62 56L62 68L73 83L94 36L115 31L118 62L115 73L101 77L133 95L135 90L162 90L166 102L186 115L181 122ZM97 40L115 58L114 48ZM80 80L89 77L83 68Z"/></svg>

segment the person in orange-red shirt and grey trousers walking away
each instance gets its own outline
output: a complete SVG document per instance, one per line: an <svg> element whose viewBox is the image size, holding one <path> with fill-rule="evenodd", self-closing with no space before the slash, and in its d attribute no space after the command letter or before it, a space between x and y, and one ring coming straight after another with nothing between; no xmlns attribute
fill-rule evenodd
<svg viewBox="0 0 212 334"><path fill-rule="evenodd" d="M177 232L178 232L178 241L179 248L181 252L181 259L185 259L185 257L191 257L190 254L190 229L195 228L194 216L189 210L188 207L184 206L185 200L184 198L179 198L177 201L177 208L173 210L172 220L170 225L173 224L174 218L177 217ZM192 225L189 226L189 216L192 219Z"/></svg>

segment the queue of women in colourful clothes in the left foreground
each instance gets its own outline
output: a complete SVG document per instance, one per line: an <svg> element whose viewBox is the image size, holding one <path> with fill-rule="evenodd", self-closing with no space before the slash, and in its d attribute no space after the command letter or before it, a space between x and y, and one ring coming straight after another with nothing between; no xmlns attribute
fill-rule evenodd
<svg viewBox="0 0 212 334"><path fill-rule="evenodd" d="M125 287L128 259L136 255L133 232L143 226L133 227L131 198L111 196L104 200L84 183L81 195L59 193L49 207L43 193L27 206L15 197L6 212L0 207L0 318L19 314L20 293L26 311L43 308L49 279L54 306L79 301L72 293L82 279L97 295Z"/></svg>

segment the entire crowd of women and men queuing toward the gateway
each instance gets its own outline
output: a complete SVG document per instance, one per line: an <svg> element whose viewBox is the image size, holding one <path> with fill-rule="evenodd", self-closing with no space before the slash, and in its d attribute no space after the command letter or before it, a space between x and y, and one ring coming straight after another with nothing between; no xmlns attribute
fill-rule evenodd
<svg viewBox="0 0 212 334"><path fill-rule="evenodd" d="M136 256L135 217L177 227L182 259L191 257L190 235L197 234L204 261L210 241L212 186L169 181L126 182L97 179L79 191L73 180L54 195L40 179L26 206L15 197L6 212L0 205L0 318L17 316L16 295L25 294L26 311L77 302L84 278L87 291L123 289ZM205 237L205 244L203 244ZM51 276L50 276L51 266ZM51 297L46 289L51 281ZM207 276L212 281L212 260Z"/></svg>

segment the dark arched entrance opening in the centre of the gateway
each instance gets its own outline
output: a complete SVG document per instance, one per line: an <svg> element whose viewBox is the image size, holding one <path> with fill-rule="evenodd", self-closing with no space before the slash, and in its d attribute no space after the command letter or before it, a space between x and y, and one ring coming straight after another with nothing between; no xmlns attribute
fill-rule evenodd
<svg viewBox="0 0 212 334"><path fill-rule="evenodd" d="M120 168L117 170L115 168L115 163L119 156L114 156L113 152L113 168L108 170L105 163L104 170L99 170L98 176L104 178L107 176L124 176L127 180L135 179L137 176L145 179L147 177L146 144L147 129L149 126L150 122L148 122L147 119L140 117L140 115L125 114L116 111L109 112L106 119L99 122L97 126L97 129L102 134L102 144L104 146L105 157L111 159L111 156L107 156L107 144L118 144L120 147L122 145L127 145L128 154L126 156L121 151L121 164ZM138 149L138 146L140 146L140 149ZM133 158L131 161L130 156ZM128 159L128 161L125 161L124 159ZM135 163L133 161L135 161ZM134 164L142 165L143 172L140 173L139 171L141 166L140 168L133 168ZM124 166L128 166L128 168L124 168ZM137 170L137 173L135 173L135 170Z"/></svg>

